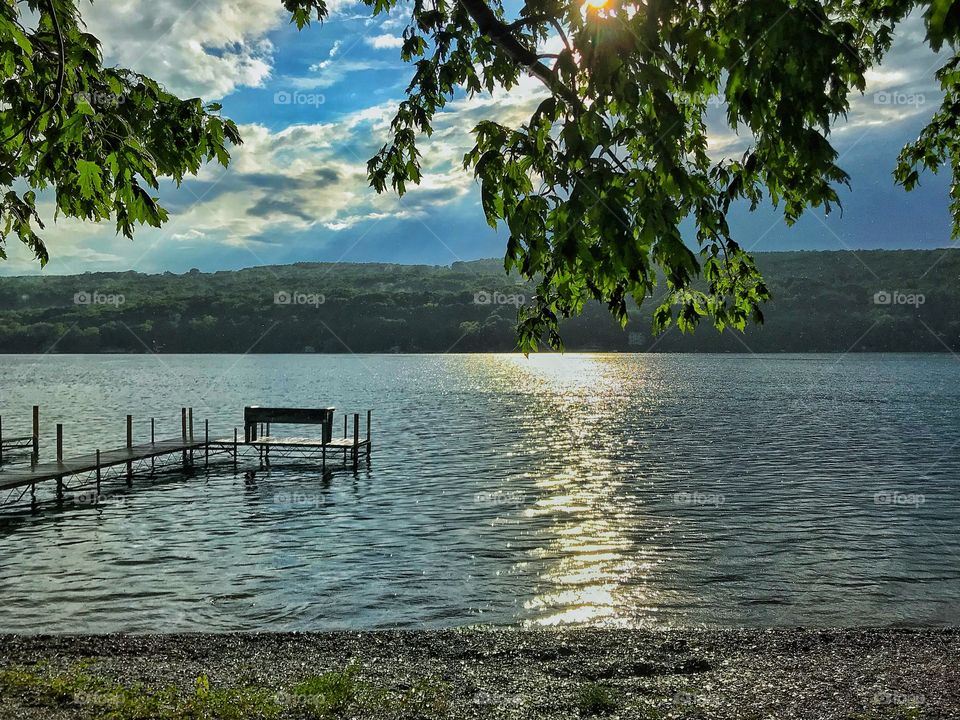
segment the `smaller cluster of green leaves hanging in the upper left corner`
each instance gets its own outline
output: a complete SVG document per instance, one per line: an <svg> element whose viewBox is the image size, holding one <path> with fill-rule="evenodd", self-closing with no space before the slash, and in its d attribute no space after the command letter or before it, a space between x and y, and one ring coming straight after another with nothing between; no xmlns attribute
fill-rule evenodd
<svg viewBox="0 0 960 720"><path fill-rule="evenodd" d="M236 125L219 105L181 100L157 82L103 67L75 0L0 2L0 258L12 233L48 259L37 191L51 190L54 217L167 219L151 190L179 184L208 160L224 166Z"/></svg>

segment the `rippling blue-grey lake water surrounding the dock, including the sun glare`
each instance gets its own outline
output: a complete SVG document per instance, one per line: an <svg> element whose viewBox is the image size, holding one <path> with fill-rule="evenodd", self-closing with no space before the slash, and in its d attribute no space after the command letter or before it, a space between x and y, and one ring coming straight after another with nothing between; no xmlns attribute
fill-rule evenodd
<svg viewBox="0 0 960 720"><path fill-rule="evenodd" d="M183 405L371 408L374 452L7 512L4 632L960 622L949 355L0 357L4 432L35 403L44 459Z"/></svg>

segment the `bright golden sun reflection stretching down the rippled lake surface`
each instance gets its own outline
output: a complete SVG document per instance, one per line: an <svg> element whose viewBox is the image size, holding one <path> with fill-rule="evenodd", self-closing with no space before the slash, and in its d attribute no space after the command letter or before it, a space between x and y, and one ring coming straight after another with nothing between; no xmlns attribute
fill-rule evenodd
<svg viewBox="0 0 960 720"><path fill-rule="evenodd" d="M527 624L635 624L638 606L650 602L638 579L652 563L634 539L635 520L618 508L629 488L611 445L624 402L611 358L536 355L507 362L515 363L516 380L537 392L525 430L545 458L529 476L537 493L522 511L540 530L528 551L539 573L524 601L533 616Z"/></svg>

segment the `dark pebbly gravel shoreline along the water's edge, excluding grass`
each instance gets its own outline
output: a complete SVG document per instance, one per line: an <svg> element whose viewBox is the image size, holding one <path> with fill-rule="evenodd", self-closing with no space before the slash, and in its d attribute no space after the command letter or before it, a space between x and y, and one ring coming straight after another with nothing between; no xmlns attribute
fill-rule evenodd
<svg viewBox="0 0 960 720"><path fill-rule="evenodd" d="M443 717L577 718L609 690L621 718L960 718L960 629L506 630L0 635L0 670L46 661L124 684L282 691L351 661L380 686L433 678ZM0 685L0 718L88 718ZM293 715L291 715L293 716ZM353 714L373 717L374 714Z"/></svg>

